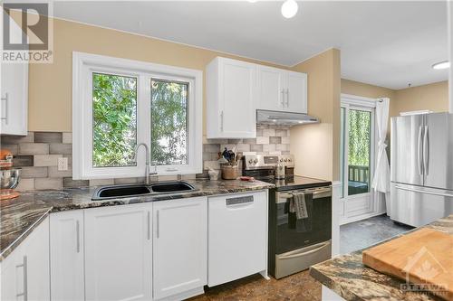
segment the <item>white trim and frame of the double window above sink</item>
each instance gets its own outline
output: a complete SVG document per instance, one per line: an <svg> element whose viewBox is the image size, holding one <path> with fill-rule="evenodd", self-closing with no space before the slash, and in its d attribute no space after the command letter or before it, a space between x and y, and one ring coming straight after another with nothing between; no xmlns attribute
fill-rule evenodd
<svg viewBox="0 0 453 301"><path fill-rule="evenodd" d="M145 174L145 152L140 149L137 166L92 167L92 71L137 77L137 143L150 146L150 78L189 82L188 165L158 166L159 175L202 172L203 72L168 65L109 56L72 52L72 178L110 179ZM145 107L146 108L146 107ZM151 172L154 168L151 166Z"/></svg>

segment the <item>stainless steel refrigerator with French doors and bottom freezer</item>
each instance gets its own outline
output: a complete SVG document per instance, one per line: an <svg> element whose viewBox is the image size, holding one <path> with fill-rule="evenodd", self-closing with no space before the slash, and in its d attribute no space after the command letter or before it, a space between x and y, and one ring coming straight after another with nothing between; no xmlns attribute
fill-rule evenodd
<svg viewBox="0 0 453 301"><path fill-rule="evenodd" d="M419 227L453 213L453 114L391 118L390 219Z"/></svg>

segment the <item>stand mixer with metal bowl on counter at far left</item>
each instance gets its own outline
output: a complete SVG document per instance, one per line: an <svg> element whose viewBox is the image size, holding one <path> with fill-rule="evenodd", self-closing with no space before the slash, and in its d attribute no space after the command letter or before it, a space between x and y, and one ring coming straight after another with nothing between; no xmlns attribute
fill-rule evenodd
<svg viewBox="0 0 453 301"><path fill-rule="evenodd" d="M20 195L14 191L19 184L21 168L13 167L13 154L7 150L0 150L0 200L14 199Z"/></svg>

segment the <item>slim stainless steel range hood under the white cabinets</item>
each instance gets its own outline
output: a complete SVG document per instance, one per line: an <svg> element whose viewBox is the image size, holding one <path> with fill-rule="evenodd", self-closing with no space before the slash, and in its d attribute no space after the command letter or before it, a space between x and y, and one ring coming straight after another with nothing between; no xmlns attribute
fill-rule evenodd
<svg viewBox="0 0 453 301"><path fill-rule="evenodd" d="M256 123L260 125L283 125L292 127L319 122L320 120L318 118L302 113L269 111L265 109L256 110Z"/></svg>

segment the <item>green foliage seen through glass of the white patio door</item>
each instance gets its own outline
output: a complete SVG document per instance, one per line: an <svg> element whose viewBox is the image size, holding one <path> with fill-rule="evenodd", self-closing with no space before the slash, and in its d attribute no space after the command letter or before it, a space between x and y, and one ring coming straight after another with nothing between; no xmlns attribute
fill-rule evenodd
<svg viewBox="0 0 453 301"><path fill-rule="evenodd" d="M349 165L370 165L371 113L349 111Z"/></svg>

